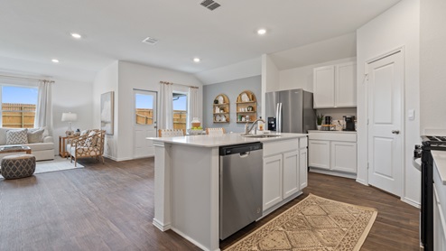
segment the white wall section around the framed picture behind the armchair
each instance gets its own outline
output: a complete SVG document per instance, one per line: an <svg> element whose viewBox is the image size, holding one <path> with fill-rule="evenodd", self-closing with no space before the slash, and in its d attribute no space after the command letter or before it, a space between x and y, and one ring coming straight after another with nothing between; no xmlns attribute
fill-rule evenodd
<svg viewBox="0 0 446 251"><path fill-rule="evenodd" d="M118 63L115 61L111 65L107 66L105 69L100 70L98 75L96 76L93 82L92 89L92 100L93 100L93 116L91 116L91 121L94 128L100 128L100 96L102 93L106 93L108 91L115 92L115 109L114 109L114 135L106 135L106 142L104 144L104 155L110 159L116 160L117 156L117 140L118 140L118 131L117 131L117 118L118 116L118 97L117 93L117 73L118 73Z"/></svg>

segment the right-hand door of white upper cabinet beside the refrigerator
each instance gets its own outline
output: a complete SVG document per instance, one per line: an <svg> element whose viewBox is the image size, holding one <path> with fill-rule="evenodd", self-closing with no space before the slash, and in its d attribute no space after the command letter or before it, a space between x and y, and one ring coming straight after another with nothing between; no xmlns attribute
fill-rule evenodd
<svg viewBox="0 0 446 251"><path fill-rule="evenodd" d="M357 106L356 64L348 62L336 66L335 107Z"/></svg>

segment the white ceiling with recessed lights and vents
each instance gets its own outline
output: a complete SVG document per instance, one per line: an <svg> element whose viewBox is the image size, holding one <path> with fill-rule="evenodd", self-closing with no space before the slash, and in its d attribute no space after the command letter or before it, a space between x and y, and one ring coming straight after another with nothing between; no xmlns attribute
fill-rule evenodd
<svg viewBox="0 0 446 251"><path fill-rule="evenodd" d="M0 1L0 71L91 81L116 60L202 73L265 53L290 69L355 55L352 33L399 1L217 0L214 11L200 0Z"/></svg>

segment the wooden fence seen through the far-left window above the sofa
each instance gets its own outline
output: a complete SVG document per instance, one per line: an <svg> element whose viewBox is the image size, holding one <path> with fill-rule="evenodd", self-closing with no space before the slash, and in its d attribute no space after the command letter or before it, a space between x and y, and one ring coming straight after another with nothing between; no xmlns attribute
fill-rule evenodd
<svg viewBox="0 0 446 251"><path fill-rule="evenodd" d="M35 105L2 103L2 126L14 128L33 128Z"/></svg>

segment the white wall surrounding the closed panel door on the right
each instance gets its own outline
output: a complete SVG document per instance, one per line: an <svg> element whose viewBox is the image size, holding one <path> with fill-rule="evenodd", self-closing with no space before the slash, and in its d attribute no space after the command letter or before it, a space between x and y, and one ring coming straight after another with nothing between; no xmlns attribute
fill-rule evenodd
<svg viewBox="0 0 446 251"><path fill-rule="evenodd" d="M358 181L367 183L367 90L363 79L367 60L404 47L404 194L402 200L420 202L420 172L413 168L413 145L420 142L419 0L403 0L357 31L358 46ZM415 110L415 119L407 111Z"/></svg>

